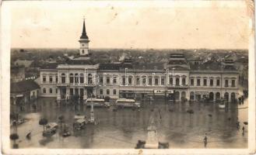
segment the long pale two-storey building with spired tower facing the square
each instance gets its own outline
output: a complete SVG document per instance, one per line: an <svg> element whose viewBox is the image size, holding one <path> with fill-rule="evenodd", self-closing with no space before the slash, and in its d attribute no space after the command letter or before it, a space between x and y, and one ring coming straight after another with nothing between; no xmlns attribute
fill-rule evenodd
<svg viewBox="0 0 256 155"><path fill-rule="evenodd" d="M202 65L201 61L188 62L182 53L173 53L167 63L136 64L126 58L120 63L94 64L89 58L85 22L79 43L79 57L40 69L42 97L61 101L74 95L86 100L91 95L145 98L174 93L176 100L237 98L239 74L232 60Z"/></svg>

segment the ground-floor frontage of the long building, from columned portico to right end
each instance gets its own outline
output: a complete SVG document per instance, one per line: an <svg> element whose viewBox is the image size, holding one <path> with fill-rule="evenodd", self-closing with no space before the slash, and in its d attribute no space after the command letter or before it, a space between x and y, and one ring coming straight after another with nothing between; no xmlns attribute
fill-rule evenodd
<svg viewBox="0 0 256 155"><path fill-rule="evenodd" d="M216 102L226 99L235 102L243 95L238 89L210 89L210 88L150 88L150 87L120 87L120 86L76 86L58 87L57 100L68 100L77 96L81 100L87 98L136 98L136 99L168 99L175 101L201 101L207 99Z"/></svg>

